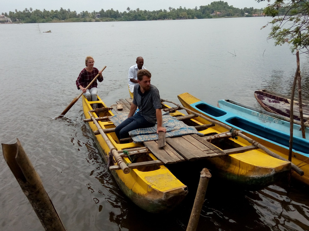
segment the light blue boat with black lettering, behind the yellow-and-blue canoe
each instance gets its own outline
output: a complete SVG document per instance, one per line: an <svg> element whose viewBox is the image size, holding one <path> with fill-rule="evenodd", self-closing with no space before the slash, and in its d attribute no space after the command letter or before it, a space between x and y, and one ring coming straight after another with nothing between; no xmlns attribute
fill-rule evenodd
<svg viewBox="0 0 309 231"><path fill-rule="evenodd" d="M218 107L260 124L261 126L271 128L290 136L290 118L250 107L231 99L219 100ZM293 122L293 136L303 138L302 131L300 130L300 122L298 120L294 120ZM309 124L305 124L305 126L305 137L309 140Z"/></svg>

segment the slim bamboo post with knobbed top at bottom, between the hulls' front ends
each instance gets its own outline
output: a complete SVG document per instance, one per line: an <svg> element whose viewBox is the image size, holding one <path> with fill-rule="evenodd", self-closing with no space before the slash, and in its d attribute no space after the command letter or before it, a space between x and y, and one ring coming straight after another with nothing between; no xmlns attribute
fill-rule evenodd
<svg viewBox="0 0 309 231"><path fill-rule="evenodd" d="M205 194L211 174L207 168L202 169L200 182L198 183L197 192L191 211L191 216L186 231L195 231L200 219L201 210L205 200Z"/></svg>

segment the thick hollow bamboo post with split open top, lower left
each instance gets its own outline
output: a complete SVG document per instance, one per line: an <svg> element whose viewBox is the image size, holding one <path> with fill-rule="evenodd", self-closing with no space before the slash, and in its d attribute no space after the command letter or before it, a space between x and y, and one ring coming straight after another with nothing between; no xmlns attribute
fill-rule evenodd
<svg viewBox="0 0 309 231"><path fill-rule="evenodd" d="M40 176L34 169L19 140L15 144L1 144L3 157L28 198L46 231L65 231L65 227L45 191Z"/></svg>

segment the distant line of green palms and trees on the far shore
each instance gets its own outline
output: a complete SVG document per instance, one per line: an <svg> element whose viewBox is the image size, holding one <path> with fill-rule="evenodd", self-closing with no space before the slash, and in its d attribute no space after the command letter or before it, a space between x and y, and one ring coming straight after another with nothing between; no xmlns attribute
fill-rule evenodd
<svg viewBox="0 0 309 231"><path fill-rule="evenodd" d="M175 9L168 7L167 10L147 11L140 10L139 8L131 10L127 7L124 12L118 10L109 9L100 11L82 11L80 13L71 11L70 9L43 11L33 10L31 7L24 9L23 11L10 11L9 14L2 13L6 17L11 18L12 22L23 23L47 23L47 22L89 22L89 21L142 21L142 20L163 20L163 19L205 19L212 17L244 17L252 16L254 14L260 15L263 9L250 8L235 8L229 6L227 2L217 1L211 2L207 6L197 6L194 9L181 7ZM220 15L211 15L214 12L221 13ZM100 14L100 18L96 18L96 14Z"/></svg>

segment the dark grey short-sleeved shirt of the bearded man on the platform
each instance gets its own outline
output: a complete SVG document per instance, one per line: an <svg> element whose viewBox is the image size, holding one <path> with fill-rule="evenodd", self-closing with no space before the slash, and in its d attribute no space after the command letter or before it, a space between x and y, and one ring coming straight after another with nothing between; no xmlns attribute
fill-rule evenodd
<svg viewBox="0 0 309 231"><path fill-rule="evenodd" d="M139 84L134 86L133 103L138 106L139 115L142 115L149 123L157 122L156 109L161 109L159 90L150 85L149 91L141 92Z"/></svg>

